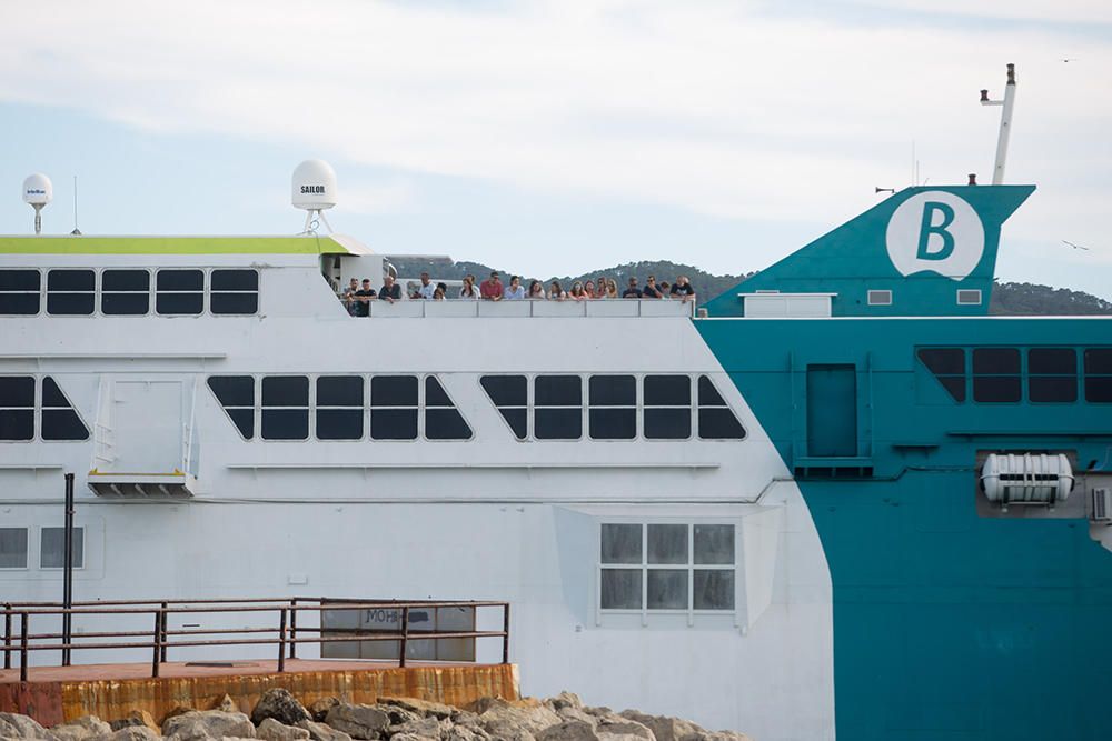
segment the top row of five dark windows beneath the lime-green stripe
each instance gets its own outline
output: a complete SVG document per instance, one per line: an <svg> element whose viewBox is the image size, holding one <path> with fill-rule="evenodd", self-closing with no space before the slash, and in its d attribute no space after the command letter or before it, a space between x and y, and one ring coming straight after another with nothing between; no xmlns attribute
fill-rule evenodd
<svg viewBox="0 0 1112 741"><path fill-rule="evenodd" d="M99 280L98 280L99 279ZM77 269L47 271L46 291L41 271L36 269L0 270L0 316L51 317L141 317L151 313L153 287L155 313L196 316L208 310L217 316L255 314L259 311L259 272L247 269L198 268L160 269Z"/></svg>

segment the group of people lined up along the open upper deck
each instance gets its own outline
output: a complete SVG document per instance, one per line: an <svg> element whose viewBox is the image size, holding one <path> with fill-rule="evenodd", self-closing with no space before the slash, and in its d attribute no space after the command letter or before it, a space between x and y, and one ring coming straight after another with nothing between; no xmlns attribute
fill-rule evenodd
<svg viewBox="0 0 1112 741"><path fill-rule="evenodd" d="M408 298L444 301L448 298L447 283L434 283L427 272L420 274L420 284ZM353 317L370 316L370 301L381 300L394 303L400 301L403 297L401 287L393 276L387 276L381 289L376 293L370 286L370 279L364 278L360 282L353 278L350 284L344 291L344 306ZM598 299L678 299L682 301L695 300L695 287L691 284L687 276L679 276L674 283L667 281L656 282L655 276L649 276L644 286L638 286L637 278L631 276L627 279L625 290L618 292L618 284L613 278L599 276L597 281L574 281L569 290L564 290L558 280L552 281L545 290L544 283L534 280L526 289L522 283L520 276L510 276L509 283L503 283L497 270L490 271L490 277L485 281L475 284L475 276L466 276L464 284L459 288L459 296L454 297L469 300L484 301L524 301L526 299L539 301L592 301Z"/></svg>

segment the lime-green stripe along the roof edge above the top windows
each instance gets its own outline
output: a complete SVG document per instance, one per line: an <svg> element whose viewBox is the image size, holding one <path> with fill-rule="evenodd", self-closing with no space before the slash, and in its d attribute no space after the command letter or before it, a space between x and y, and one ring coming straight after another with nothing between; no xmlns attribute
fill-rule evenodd
<svg viewBox="0 0 1112 741"><path fill-rule="evenodd" d="M348 254L328 237L0 237L0 254Z"/></svg>

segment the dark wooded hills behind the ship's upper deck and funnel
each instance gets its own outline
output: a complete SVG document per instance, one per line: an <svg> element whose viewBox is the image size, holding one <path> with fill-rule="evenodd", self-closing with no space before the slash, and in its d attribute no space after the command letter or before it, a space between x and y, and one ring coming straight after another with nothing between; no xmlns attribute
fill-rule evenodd
<svg viewBox="0 0 1112 741"><path fill-rule="evenodd" d="M480 262L467 261L450 262L448 260L418 260L399 257L391 258L391 262L398 269L398 274L404 278L414 278L423 270L427 270L429 274L444 280L459 280L470 273L481 281L492 270L489 266ZM510 271L500 270L500 272L503 276L513 274ZM627 262L578 276L549 276L544 279L544 282L547 286L553 280L558 280L566 290L576 280L597 280L599 276L606 276L616 280L620 290L629 276L636 276L643 286L648 276L656 276L658 281L666 280L669 283L675 281L676 276L687 276L695 287L699 302L703 302L734 288L753 274L715 276L695 266L659 260ZM523 278L527 286L528 281L537 276L523 276ZM1035 283L996 283L992 291L989 313L1001 316L1112 314L1112 301L1065 288L1052 288Z"/></svg>

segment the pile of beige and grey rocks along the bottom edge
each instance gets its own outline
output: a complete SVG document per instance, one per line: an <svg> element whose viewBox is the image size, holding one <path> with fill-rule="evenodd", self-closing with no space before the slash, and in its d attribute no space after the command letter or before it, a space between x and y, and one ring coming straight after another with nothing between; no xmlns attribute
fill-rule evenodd
<svg viewBox="0 0 1112 741"><path fill-rule="evenodd" d="M736 731L636 710L584 705L570 692L537 700L483 698L466 708L416 698L353 704L325 698L308 708L284 689L268 690L250 715L225 695L211 710L175 708L158 722L136 710L106 722L96 715L46 729L27 715L0 713L0 739L43 741L749 741Z"/></svg>

